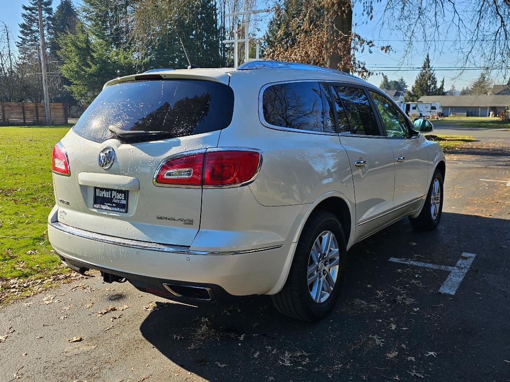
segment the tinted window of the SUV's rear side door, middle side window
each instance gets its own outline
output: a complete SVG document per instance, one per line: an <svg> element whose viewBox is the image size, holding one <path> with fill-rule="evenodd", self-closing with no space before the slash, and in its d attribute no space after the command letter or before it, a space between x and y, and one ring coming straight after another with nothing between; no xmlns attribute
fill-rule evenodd
<svg viewBox="0 0 510 382"><path fill-rule="evenodd" d="M334 88L349 121L350 132L360 135L380 135L372 106L363 89L346 86Z"/></svg>

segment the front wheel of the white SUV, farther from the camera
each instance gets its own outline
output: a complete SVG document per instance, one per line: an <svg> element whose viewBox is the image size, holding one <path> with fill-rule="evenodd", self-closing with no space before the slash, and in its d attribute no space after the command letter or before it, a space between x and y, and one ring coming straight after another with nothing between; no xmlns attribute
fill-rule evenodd
<svg viewBox="0 0 510 382"><path fill-rule="evenodd" d="M409 217L409 223L417 231L431 231L436 229L441 221L443 212L443 175L436 170L427 197L423 203L420 214L417 217Z"/></svg>

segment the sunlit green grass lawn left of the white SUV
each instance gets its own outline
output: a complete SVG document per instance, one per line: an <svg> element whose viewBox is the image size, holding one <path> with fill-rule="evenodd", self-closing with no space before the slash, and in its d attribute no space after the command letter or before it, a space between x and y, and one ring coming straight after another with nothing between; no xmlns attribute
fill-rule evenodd
<svg viewBox="0 0 510 382"><path fill-rule="evenodd" d="M49 245L46 222L55 204L52 149L70 127L0 126L0 304L20 280L26 290L14 294L29 295L34 281L68 272Z"/></svg>

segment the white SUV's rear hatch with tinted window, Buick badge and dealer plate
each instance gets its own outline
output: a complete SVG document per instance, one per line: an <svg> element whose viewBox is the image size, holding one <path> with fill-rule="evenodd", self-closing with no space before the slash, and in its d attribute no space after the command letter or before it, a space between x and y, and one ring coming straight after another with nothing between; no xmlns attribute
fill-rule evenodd
<svg viewBox="0 0 510 382"><path fill-rule="evenodd" d="M54 174L58 220L120 238L191 245L202 189L156 186L154 175L169 156L216 147L232 120L234 95L218 80L149 78L105 87L62 139L70 176Z"/></svg>

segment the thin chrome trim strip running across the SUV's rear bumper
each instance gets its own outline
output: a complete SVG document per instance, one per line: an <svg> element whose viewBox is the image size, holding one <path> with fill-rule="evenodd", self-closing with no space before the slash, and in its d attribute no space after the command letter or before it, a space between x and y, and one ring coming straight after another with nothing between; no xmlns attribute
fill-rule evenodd
<svg viewBox="0 0 510 382"><path fill-rule="evenodd" d="M84 239L95 240L101 243L120 245L121 247L129 247L136 248L140 250L147 251L159 251L159 252L171 252L183 255L241 255L245 253L253 253L253 252L261 252L261 251L269 251L277 248L283 247L283 245L272 245L271 247L264 248L255 248L251 250L242 250L242 251L192 251L190 247L185 247L182 245L168 245L161 243L152 243L148 241L140 241L133 239L124 239L115 236L103 235L100 233L90 232L86 230L82 230L80 228L74 228L60 222L50 222L48 223L51 227L68 233L73 236L78 236Z"/></svg>

